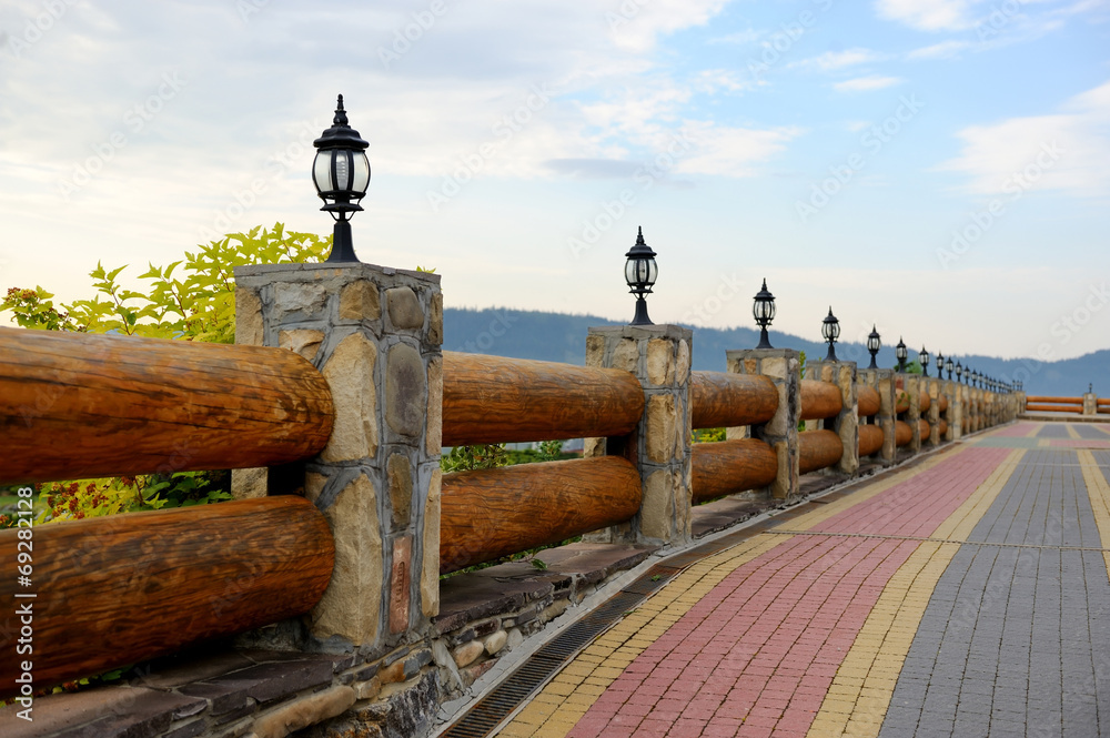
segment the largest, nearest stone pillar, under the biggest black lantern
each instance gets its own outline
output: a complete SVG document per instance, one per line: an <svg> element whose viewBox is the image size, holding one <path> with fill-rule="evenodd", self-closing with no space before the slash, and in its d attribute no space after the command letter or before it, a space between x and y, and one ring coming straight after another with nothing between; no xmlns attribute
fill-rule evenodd
<svg viewBox="0 0 1110 738"><path fill-rule="evenodd" d="M301 354L335 405L320 456L233 477L236 497L296 492L331 525L335 569L301 646L372 656L428 635L440 601L440 275L271 264L236 267L235 282L236 342Z"/></svg>

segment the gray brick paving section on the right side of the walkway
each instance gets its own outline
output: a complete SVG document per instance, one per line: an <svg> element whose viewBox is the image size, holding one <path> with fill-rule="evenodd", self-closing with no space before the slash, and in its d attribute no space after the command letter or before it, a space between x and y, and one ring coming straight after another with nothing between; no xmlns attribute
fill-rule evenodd
<svg viewBox="0 0 1110 738"><path fill-rule="evenodd" d="M1106 564L1052 546L1101 539L1076 453L1029 451L938 582L880 738L1110 737Z"/></svg>

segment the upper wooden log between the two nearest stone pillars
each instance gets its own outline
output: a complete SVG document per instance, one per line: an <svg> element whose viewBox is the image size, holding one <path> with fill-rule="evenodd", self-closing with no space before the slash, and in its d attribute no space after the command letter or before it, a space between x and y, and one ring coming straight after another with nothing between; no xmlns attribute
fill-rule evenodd
<svg viewBox="0 0 1110 738"><path fill-rule="evenodd" d="M624 370L443 352L443 445L622 436L644 414Z"/></svg>

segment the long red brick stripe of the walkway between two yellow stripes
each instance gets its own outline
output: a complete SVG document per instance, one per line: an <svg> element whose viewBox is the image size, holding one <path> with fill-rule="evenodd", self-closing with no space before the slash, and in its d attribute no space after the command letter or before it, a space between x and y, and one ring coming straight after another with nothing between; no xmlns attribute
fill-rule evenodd
<svg viewBox="0 0 1110 738"><path fill-rule="evenodd" d="M969 448L811 529L928 536L1009 453ZM884 587L917 546L785 539L730 573L648 646L569 737L804 738Z"/></svg>

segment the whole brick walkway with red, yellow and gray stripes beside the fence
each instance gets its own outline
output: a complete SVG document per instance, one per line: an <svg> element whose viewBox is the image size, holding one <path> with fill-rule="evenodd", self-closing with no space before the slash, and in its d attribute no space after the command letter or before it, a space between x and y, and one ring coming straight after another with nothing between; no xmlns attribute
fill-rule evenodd
<svg viewBox="0 0 1110 738"><path fill-rule="evenodd" d="M1104 448L1019 423L756 533L500 735L1110 736Z"/></svg>

